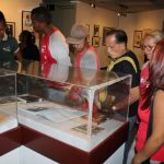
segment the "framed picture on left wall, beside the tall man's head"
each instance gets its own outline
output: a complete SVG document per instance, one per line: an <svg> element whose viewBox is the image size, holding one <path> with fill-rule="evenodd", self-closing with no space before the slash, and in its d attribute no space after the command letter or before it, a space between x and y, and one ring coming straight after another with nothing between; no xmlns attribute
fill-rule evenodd
<svg viewBox="0 0 164 164"><path fill-rule="evenodd" d="M22 31L33 32L31 11L22 11Z"/></svg>

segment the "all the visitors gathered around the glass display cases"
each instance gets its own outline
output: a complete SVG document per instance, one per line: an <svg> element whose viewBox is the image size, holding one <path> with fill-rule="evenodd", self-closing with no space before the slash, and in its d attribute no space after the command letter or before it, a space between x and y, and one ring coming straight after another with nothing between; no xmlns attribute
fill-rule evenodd
<svg viewBox="0 0 164 164"><path fill-rule="evenodd" d="M66 38L57 27L51 25L51 14L44 7L32 10L32 25L35 32L44 34L40 52L36 47L31 47L35 39L26 31L20 35L22 44L19 48L15 39L5 35L5 19L0 12L0 67L13 68L14 56L17 60L22 60L21 52L24 54L23 58L28 58L27 52L32 50L36 54L32 58L40 59L43 71L47 63L101 69L97 51L87 43L87 26L74 24L70 36ZM127 48L128 37L125 31L107 32L105 42L112 59L107 71L132 75L128 115L129 139L125 148L124 164L127 163L137 129L136 155L131 163L162 163L164 162L164 34L154 31L144 37L142 49L149 61L144 63L141 72L136 55ZM75 52L73 63L69 56L69 45L72 45ZM124 101L113 106L113 109L120 109Z"/></svg>

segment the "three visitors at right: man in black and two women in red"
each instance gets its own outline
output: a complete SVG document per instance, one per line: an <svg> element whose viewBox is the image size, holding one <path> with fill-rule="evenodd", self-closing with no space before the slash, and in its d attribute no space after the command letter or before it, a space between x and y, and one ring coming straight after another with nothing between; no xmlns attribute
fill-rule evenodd
<svg viewBox="0 0 164 164"><path fill-rule="evenodd" d="M164 163L164 34L154 31L144 37L142 49L149 61L143 65L141 72L136 55L127 48L127 42L124 31L114 30L106 34L106 45L112 58L108 71L132 75L129 137L122 163L127 163L136 130L136 155L131 163ZM113 106L113 109L118 110L124 105L122 101Z"/></svg>

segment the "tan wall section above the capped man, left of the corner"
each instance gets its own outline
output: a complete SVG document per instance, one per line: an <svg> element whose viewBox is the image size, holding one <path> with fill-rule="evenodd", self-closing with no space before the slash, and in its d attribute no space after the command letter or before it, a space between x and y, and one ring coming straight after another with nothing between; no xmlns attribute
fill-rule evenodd
<svg viewBox="0 0 164 164"><path fill-rule="evenodd" d="M94 24L99 25L101 46L97 47L102 67L108 66L107 49L102 46L103 27L118 27L118 16L115 12L91 8L89 4L79 2L77 4L77 23L90 25L90 44L92 44Z"/></svg>

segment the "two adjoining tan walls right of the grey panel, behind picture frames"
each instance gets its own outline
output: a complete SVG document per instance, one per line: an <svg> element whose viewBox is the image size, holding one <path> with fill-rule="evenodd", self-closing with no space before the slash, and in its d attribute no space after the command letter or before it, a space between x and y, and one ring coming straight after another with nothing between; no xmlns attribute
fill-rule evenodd
<svg viewBox="0 0 164 164"><path fill-rule="evenodd" d="M94 24L99 25L99 37L101 44L97 47L102 67L108 65L108 58L106 52L106 47L102 46L103 27L118 27L127 32L128 35L128 48L137 54L140 62L140 67L143 65L143 52L141 48L133 47L133 32L134 31L147 31L161 30L164 20L164 10L155 10L149 12L139 13L128 13L127 16L117 16L115 12L102 9L102 8L91 8L86 3L78 3L77 5L77 22L82 22L84 24L90 24L91 39L93 36ZM92 44L92 42L91 42Z"/></svg>

